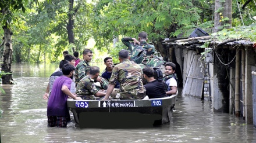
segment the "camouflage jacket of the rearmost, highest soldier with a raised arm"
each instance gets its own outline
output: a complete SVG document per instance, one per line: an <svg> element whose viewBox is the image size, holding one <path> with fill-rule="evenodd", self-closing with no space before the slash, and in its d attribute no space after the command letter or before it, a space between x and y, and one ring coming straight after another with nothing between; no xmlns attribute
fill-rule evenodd
<svg viewBox="0 0 256 143"><path fill-rule="evenodd" d="M133 50L136 49L136 46L138 46L138 45L134 45L134 43L132 41L133 40L131 38L122 38L123 44L125 44L128 47L127 50L129 50L130 53L132 53ZM147 50L147 56L151 56L151 54L155 53L155 46L154 45L148 44L145 41L141 41L140 46L142 46L143 49Z"/></svg>

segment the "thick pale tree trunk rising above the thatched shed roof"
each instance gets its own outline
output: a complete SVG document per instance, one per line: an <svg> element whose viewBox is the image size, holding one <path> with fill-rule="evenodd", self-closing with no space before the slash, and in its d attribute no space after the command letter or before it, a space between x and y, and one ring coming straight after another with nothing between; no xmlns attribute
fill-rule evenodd
<svg viewBox="0 0 256 143"><path fill-rule="evenodd" d="M223 0L215 1L215 13L214 13L214 32L221 31L224 24L230 24L232 20L232 0ZM218 11L218 12L216 12ZM221 14L220 14L221 13ZM222 17L223 16L223 17ZM223 18L228 17L229 20L225 21Z"/></svg>

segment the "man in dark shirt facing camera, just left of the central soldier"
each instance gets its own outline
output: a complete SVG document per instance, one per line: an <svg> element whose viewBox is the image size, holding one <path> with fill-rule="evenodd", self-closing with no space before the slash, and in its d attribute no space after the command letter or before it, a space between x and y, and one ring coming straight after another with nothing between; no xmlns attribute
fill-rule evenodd
<svg viewBox="0 0 256 143"><path fill-rule="evenodd" d="M106 80L109 81L111 75L112 75L112 70L113 70L113 60L112 57L106 57L104 58L104 64L106 65L105 70L101 73L102 78L105 78ZM119 83L117 82L115 85L116 89L120 88Z"/></svg>

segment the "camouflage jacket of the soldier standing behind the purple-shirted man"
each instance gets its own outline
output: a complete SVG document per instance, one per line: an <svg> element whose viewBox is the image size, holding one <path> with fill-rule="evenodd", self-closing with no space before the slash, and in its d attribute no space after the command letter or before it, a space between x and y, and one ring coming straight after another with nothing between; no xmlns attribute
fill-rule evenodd
<svg viewBox="0 0 256 143"><path fill-rule="evenodd" d="M76 85L79 81L87 75L87 72L90 70L90 65L86 61L80 61L76 65L76 70L74 71L74 80Z"/></svg>

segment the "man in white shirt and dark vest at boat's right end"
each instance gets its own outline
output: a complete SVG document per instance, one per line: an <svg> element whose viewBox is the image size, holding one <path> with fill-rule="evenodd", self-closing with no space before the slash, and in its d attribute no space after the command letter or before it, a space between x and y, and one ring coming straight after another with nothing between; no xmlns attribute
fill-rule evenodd
<svg viewBox="0 0 256 143"><path fill-rule="evenodd" d="M167 96L172 96L172 94L177 94L177 75L175 74L176 65L172 62L165 64L165 76L163 80L166 83Z"/></svg>

